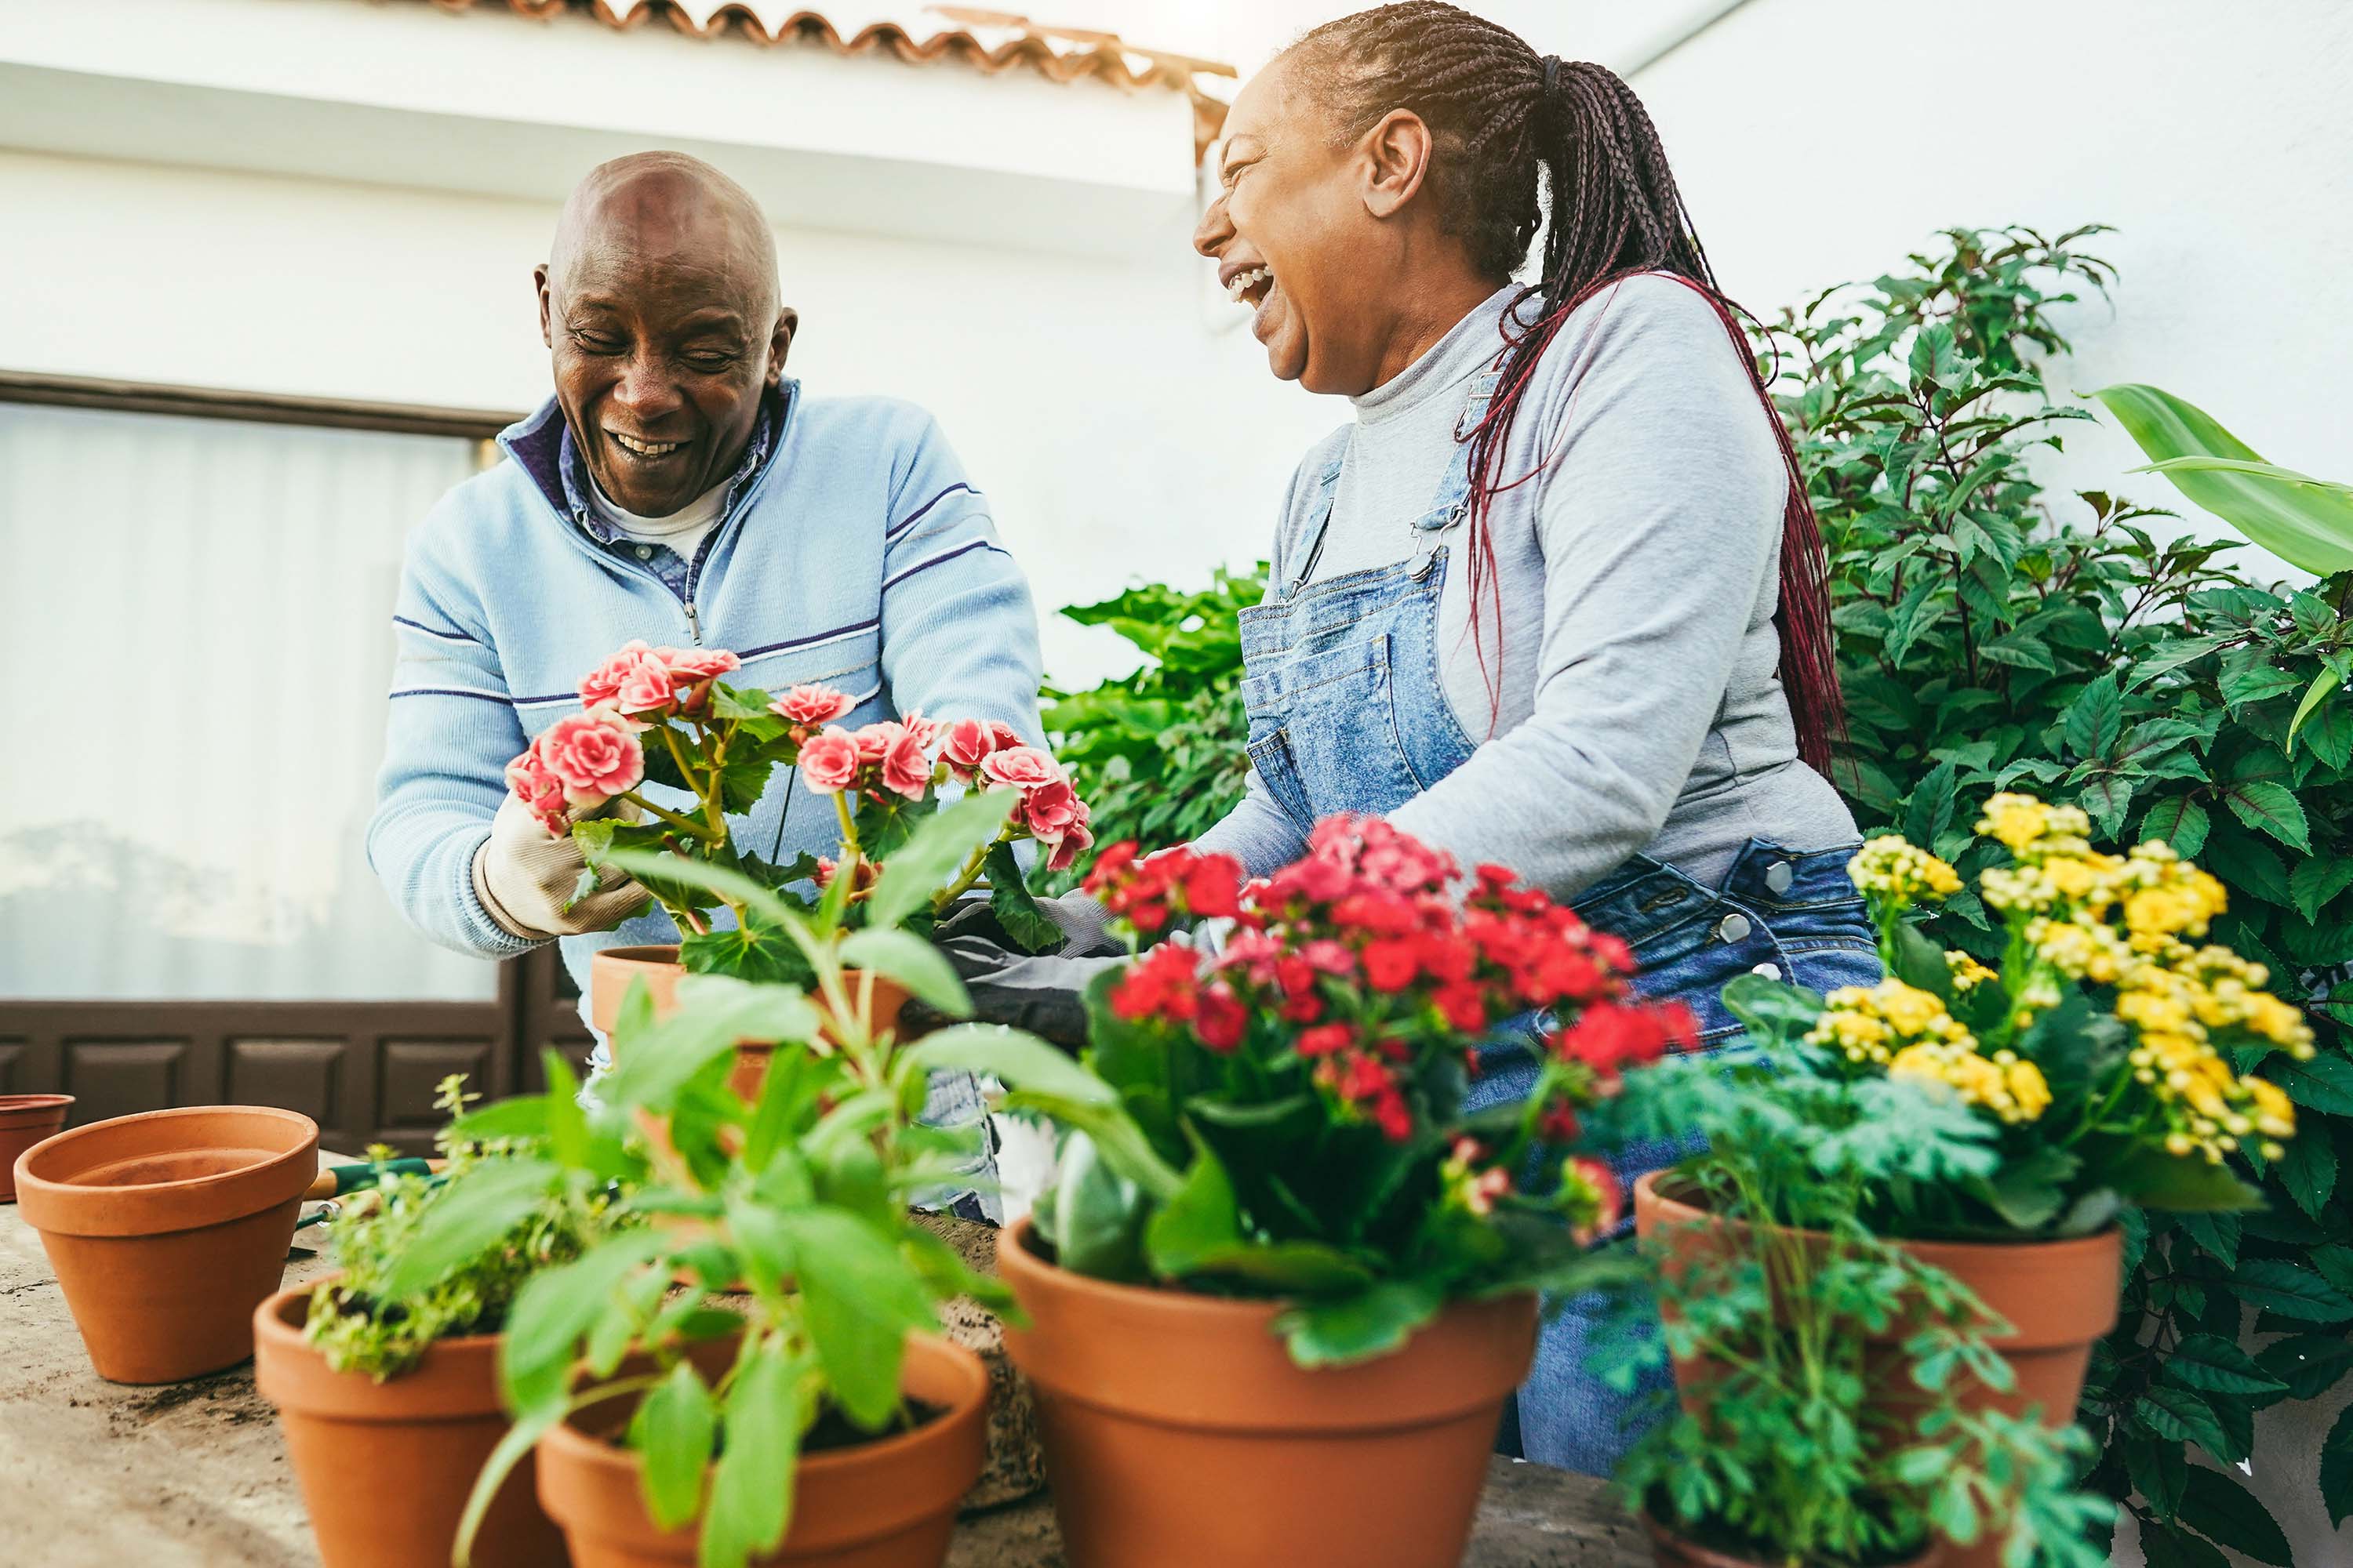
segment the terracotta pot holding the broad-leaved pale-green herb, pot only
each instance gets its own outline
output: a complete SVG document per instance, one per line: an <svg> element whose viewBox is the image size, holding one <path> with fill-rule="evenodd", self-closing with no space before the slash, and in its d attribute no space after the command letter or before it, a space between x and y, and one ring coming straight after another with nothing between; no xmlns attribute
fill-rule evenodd
<svg viewBox="0 0 2353 1568"><path fill-rule="evenodd" d="M946 1415L913 1432L800 1460L793 1526L755 1563L939 1568L955 1505L981 1476L988 1371L946 1340L906 1342L904 1387ZM645 1512L638 1458L612 1441L626 1401L588 1406L539 1441L539 1500L576 1568L671 1568L694 1561L694 1528L661 1530ZM586 1422L586 1425L581 1425ZM480 1549L478 1563L489 1563Z"/></svg>

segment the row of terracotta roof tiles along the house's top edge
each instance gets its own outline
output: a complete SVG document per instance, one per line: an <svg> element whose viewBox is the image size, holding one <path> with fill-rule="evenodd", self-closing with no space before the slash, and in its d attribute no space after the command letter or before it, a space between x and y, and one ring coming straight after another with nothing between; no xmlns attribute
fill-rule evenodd
<svg viewBox="0 0 2353 1568"><path fill-rule="evenodd" d="M496 7L501 0L431 0L445 12L468 12L478 2ZM1200 155L1217 139L1226 122L1226 103L1212 96L1205 78L1233 78L1235 68L1224 61L1169 54L1167 49L1141 49L1118 33L1094 28L1061 28L1031 21L1012 12L991 12L965 5L901 5L878 7L845 0L831 12L786 7L779 2L748 5L725 0L704 5L694 0L504 0L518 16L553 19L562 12L586 12L609 28L635 28L661 14L673 28L692 38L718 38L741 33L760 45L784 40L819 42L835 54L894 54L911 66L955 61L976 71L998 73L1016 66L1031 68L1054 82L1101 78L1113 87L1169 87L1193 101L1193 153ZM760 12L774 21L762 21ZM939 26L913 16L939 19Z"/></svg>

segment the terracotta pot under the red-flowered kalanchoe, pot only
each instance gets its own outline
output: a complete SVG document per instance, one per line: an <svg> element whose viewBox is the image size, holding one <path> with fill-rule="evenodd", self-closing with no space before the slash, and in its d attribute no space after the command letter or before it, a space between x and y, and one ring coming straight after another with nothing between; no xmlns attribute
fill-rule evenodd
<svg viewBox="0 0 2353 1568"><path fill-rule="evenodd" d="M1280 1302L1087 1279L998 1237L1028 1328L1071 1568L1433 1568L1461 1559L1504 1399L1537 1352L1537 1298L1464 1302L1405 1349L1301 1371Z"/></svg>

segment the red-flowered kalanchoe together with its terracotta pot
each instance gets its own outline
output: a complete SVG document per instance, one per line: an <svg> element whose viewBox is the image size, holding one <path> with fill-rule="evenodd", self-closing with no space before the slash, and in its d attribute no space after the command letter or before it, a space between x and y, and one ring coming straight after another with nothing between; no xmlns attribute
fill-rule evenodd
<svg viewBox="0 0 2353 1568"><path fill-rule="evenodd" d="M1687 1034L1569 910L1372 818L1242 886L1224 856L1106 851L1089 889L1167 940L1096 980L1115 1105L1009 1095L1075 1128L1035 1225L998 1239L1073 1561L1454 1561L1537 1293L1612 1274L1581 1110ZM1466 1112L1475 1051L1548 1013L1541 1081ZM1539 1044L1537 1030L1527 1032Z"/></svg>

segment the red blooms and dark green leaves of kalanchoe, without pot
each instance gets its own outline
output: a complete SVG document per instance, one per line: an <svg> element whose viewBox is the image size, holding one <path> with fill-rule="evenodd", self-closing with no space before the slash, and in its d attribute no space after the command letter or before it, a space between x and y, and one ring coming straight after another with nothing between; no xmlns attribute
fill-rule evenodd
<svg viewBox="0 0 2353 1568"><path fill-rule="evenodd" d="M1226 856L1106 851L1087 889L1165 940L1089 992L1085 1107L1038 1232L1080 1274L1275 1295L1301 1366L1379 1356L1449 1300L1574 1291L1612 1262L1607 1166L1569 1157L1621 1072L1689 1037L1633 999L1633 957L1569 910L1377 818L1329 818L1306 858L1242 886ZM1457 903L1457 896L1461 898ZM1475 1051L1548 1013L1525 1103L1466 1112Z"/></svg>

